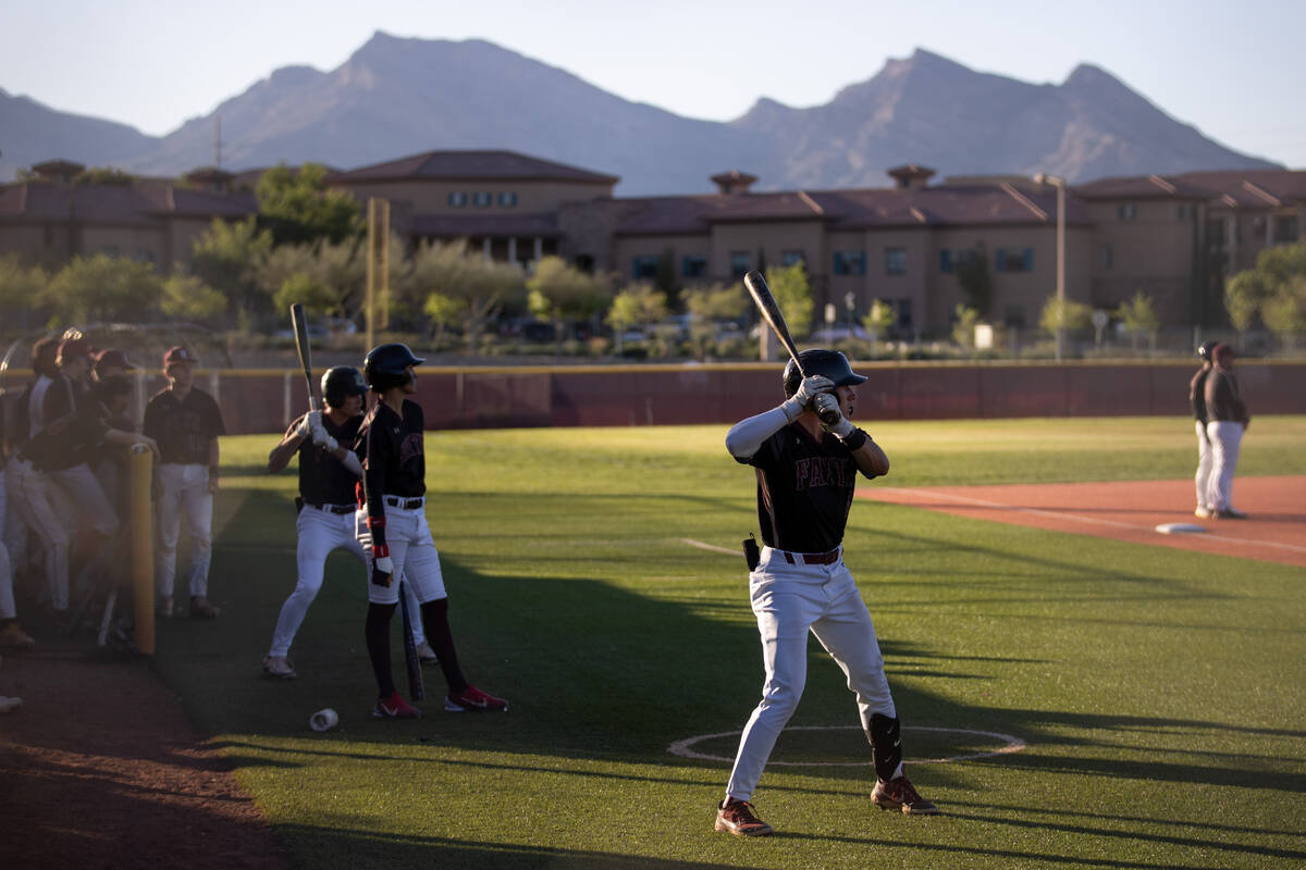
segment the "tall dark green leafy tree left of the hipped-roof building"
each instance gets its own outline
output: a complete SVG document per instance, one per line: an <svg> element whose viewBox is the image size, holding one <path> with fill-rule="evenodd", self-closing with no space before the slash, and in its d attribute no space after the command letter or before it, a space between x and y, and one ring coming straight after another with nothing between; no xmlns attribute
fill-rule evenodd
<svg viewBox="0 0 1306 870"><path fill-rule="evenodd" d="M278 245L328 240L340 244L363 230L358 201L326 188L326 167L304 163L298 171L285 163L268 170L255 187L259 220Z"/></svg>

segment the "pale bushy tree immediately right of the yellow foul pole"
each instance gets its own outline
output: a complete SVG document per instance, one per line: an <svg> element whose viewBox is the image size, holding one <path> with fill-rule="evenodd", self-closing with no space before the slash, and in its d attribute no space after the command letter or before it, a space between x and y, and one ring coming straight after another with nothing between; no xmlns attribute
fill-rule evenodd
<svg viewBox="0 0 1306 870"><path fill-rule="evenodd" d="M485 321L525 291L520 269L469 254L462 240L447 245L422 243L413 256L411 282L424 300L439 293L458 303L473 353Z"/></svg>

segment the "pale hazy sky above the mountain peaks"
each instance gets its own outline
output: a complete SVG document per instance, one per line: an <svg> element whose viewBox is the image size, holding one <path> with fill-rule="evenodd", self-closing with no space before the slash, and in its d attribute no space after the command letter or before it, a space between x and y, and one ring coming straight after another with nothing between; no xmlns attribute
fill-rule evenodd
<svg viewBox="0 0 1306 870"><path fill-rule="evenodd" d="M1229 147L1306 168L1306 0L0 0L0 89L162 134L278 67L333 69L376 30L488 39L713 120L759 97L824 103L917 47L1037 83L1089 63Z"/></svg>

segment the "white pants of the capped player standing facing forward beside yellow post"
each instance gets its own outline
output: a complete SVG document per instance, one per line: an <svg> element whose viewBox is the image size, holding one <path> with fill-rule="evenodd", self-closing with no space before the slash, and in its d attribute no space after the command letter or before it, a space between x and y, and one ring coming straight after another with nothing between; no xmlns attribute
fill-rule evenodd
<svg viewBox="0 0 1306 870"><path fill-rule="evenodd" d="M209 467L175 462L159 466L158 552L154 557L154 582L159 595L172 597L176 578L176 541L182 533L182 514L191 535L192 596L209 593L209 562L213 558L213 493L209 492Z"/></svg>

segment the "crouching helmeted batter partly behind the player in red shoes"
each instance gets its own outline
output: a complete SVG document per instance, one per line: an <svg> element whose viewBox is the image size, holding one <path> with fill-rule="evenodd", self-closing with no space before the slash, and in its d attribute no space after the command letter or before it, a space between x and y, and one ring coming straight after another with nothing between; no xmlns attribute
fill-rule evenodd
<svg viewBox="0 0 1306 870"><path fill-rule="evenodd" d="M326 557L343 549L366 565L363 547L354 535L355 487L363 476L363 466L350 447L363 421L367 383L358 369L340 365L323 374L321 394L326 411L311 411L295 420L268 457L268 471L277 473L290 464L291 457L299 455L299 515L295 520L299 579L281 605L272 648L263 660L264 673L279 680L295 677L289 659L290 644L321 590ZM415 613L418 603L411 584L405 583L404 591ZM413 623L413 640L422 661L434 664L435 652L426 643L421 621Z"/></svg>

